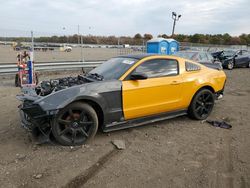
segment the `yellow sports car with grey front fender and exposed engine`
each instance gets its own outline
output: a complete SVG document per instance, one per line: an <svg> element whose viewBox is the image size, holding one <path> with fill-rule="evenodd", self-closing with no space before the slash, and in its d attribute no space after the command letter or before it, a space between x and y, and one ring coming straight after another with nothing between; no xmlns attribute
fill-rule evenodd
<svg viewBox="0 0 250 188"><path fill-rule="evenodd" d="M225 81L223 70L191 60L127 55L85 75L44 81L35 94L17 98L24 127L63 145L81 145L98 127L107 132L186 114L206 119Z"/></svg>

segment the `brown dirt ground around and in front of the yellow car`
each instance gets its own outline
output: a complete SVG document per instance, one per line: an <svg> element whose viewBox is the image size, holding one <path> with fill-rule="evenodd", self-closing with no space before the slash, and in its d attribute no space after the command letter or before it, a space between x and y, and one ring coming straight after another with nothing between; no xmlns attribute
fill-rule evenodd
<svg viewBox="0 0 250 188"><path fill-rule="evenodd" d="M183 116L99 132L82 147L36 145L20 127L20 89L1 78L0 187L250 187L250 69L226 74L225 96L209 119L231 130ZM116 150L114 139L126 149Z"/></svg>

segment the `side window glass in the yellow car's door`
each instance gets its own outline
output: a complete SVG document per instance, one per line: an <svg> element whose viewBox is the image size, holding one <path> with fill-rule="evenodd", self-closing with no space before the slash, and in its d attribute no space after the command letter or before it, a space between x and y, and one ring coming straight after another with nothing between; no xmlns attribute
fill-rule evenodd
<svg viewBox="0 0 250 188"><path fill-rule="evenodd" d="M133 72L144 73L148 78L178 75L178 62L172 59L153 59L139 65Z"/></svg>

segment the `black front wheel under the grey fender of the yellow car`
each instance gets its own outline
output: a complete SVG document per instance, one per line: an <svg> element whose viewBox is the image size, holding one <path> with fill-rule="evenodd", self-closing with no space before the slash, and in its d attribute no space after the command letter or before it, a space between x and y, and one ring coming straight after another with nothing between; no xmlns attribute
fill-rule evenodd
<svg viewBox="0 0 250 188"><path fill-rule="evenodd" d="M52 133L62 145L82 145L93 138L98 129L95 110L86 103L68 105L55 117Z"/></svg>

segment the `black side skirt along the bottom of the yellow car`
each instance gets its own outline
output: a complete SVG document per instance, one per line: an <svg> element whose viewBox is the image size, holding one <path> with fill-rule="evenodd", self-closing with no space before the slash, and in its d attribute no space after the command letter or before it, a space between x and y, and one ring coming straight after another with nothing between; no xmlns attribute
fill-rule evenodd
<svg viewBox="0 0 250 188"><path fill-rule="evenodd" d="M113 122L111 124L107 124L104 127L103 132L110 132L110 131L116 131L116 130L121 130L121 129L126 129L126 128L137 127L137 126L154 123L158 121L163 121L166 119L171 119L171 118L175 118L175 117L183 116L183 115L187 115L187 109L162 113L162 114L158 114L154 116L141 117L141 118L131 119L131 120L122 121L122 122Z"/></svg>

